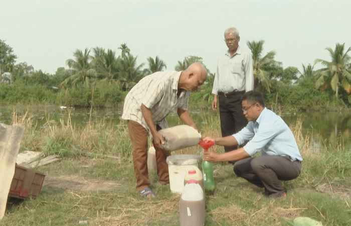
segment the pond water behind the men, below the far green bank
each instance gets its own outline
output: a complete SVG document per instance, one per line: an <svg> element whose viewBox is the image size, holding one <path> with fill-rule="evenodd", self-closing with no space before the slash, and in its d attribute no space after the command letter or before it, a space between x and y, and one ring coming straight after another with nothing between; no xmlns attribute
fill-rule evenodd
<svg viewBox="0 0 351 226"><path fill-rule="evenodd" d="M90 116L89 108L65 108L61 109L57 105L12 105L0 106L0 123L11 124L14 109L20 114L26 111L33 116L33 121L39 126L48 120L59 121L67 119L71 115L72 124L76 126L85 125L89 118L92 121L104 119L105 122L118 124L121 108L98 108L93 109ZM218 118L218 114L211 109L192 110L191 115L198 127ZM302 122L302 132L313 135L313 143L316 148L336 147L342 144L345 148L351 149L351 111L343 112L299 112L296 114L281 114L284 121L290 125L297 120ZM179 124L178 117L172 114L167 117L169 125ZM219 122L218 120L215 121Z"/></svg>

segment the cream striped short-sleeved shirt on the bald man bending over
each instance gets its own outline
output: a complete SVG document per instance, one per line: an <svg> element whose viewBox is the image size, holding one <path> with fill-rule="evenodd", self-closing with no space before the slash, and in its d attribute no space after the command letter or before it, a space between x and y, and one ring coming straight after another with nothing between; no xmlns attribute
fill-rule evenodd
<svg viewBox="0 0 351 226"><path fill-rule="evenodd" d="M140 106L151 110L152 120L162 129L167 128L166 116L177 108L188 109L190 91L182 91L179 97L178 82L181 71L160 71L142 78L126 95L123 120L132 120L149 130Z"/></svg>

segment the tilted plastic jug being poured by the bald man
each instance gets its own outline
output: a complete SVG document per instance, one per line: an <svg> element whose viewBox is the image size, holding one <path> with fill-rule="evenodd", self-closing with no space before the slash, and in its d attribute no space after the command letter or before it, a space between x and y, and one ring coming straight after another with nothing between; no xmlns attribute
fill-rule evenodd
<svg viewBox="0 0 351 226"><path fill-rule="evenodd" d="M201 134L193 127L181 125L158 131L164 137L162 148L166 151L174 151L182 148L195 146L201 139Z"/></svg>

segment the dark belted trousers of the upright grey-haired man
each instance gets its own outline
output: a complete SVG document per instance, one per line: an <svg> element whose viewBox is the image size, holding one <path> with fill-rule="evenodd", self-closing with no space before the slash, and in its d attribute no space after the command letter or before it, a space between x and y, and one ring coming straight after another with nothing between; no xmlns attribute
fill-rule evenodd
<svg viewBox="0 0 351 226"><path fill-rule="evenodd" d="M236 92L228 96L219 94L219 111L222 137L227 137L243 129L247 120L243 115L241 97L245 92ZM225 152L236 150L237 146L225 146Z"/></svg>

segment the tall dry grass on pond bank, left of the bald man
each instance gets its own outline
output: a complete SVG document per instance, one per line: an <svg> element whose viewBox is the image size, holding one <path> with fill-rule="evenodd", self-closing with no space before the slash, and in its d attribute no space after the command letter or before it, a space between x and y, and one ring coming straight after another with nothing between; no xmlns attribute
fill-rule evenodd
<svg viewBox="0 0 351 226"><path fill-rule="evenodd" d="M103 155L106 153L117 153L116 157L127 157L130 155L130 143L127 127L123 124L115 125L106 123L104 119L94 123L88 123L83 127L72 124L71 112L65 120L59 122L45 117L46 122L38 128L33 123L32 116L27 113L19 117L14 112L13 123L21 124L25 128L23 146L31 151L44 151L48 140L69 142L67 149L77 149L84 156ZM125 152L123 152L125 150Z"/></svg>

